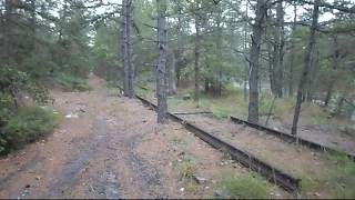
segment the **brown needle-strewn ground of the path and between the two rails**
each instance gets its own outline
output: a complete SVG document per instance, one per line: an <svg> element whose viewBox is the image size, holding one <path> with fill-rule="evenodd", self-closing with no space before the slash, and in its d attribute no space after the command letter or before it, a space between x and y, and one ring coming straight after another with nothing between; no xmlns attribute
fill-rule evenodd
<svg viewBox="0 0 355 200"><path fill-rule="evenodd" d="M152 109L139 100L118 97L119 91L108 89L102 79L90 76L89 83L92 91L51 91L55 102L48 107L78 118L63 118L52 136L0 159L0 199L213 198L222 174L250 174L182 124L158 124ZM326 154L211 116L184 118L302 178L305 198L343 197L338 192L353 186L352 174L334 170L338 162ZM207 181L197 184L187 173ZM270 198L292 198L267 184ZM338 184L342 190L334 190Z"/></svg>

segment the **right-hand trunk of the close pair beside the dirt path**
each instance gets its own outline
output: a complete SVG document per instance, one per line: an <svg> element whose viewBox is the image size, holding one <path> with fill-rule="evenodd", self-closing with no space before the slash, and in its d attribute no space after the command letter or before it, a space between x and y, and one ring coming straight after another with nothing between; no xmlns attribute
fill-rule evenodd
<svg viewBox="0 0 355 200"><path fill-rule="evenodd" d="M128 40L128 61L129 61L129 97L135 97L135 63L133 52L133 32L132 32L132 14L133 0L128 0L126 7L126 40Z"/></svg>

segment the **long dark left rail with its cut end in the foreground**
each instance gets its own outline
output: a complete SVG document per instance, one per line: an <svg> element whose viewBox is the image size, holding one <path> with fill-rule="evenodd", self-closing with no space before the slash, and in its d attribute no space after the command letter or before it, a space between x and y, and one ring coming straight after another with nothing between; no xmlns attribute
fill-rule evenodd
<svg viewBox="0 0 355 200"><path fill-rule="evenodd" d="M156 110L156 106L146 99L136 96L144 104ZM207 142L212 147L222 150L223 152L230 154L234 160L239 161L243 166L258 172L261 176L265 177L268 181L274 182L276 186L283 188L291 193L297 193L301 189L301 179L293 177L286 172L283 172L278 168L272 166L271 163L246 152L245 150L234 147L229 142L204 131L195 124L190 123L181 119L178 114L168 112L169 118L175 122L182 123L186 130L190 130L195 136L197 136L203 141Z"/></svg>

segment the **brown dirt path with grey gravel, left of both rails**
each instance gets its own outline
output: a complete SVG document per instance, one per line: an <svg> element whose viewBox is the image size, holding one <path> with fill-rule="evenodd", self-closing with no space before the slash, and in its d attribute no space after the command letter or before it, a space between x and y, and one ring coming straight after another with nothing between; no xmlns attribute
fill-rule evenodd
<svg viewBox="0 0 355 200"><path fill-rule="evenodd" d="M247 169L186 131L159 126L156 113L138 100L108 96L105 83L90 76L89 92L52 91L60 128L45 140L0 160L0 198L211 198L221 171ZM181 167L207 179L187 191ZM223 162L224 164L220 164ZM290 198L273 187L271 197Z"/></svg>

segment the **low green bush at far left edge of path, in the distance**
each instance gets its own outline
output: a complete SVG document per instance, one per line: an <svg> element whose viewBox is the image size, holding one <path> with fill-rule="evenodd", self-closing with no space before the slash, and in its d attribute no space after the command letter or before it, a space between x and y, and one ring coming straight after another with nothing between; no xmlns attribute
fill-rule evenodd
<svg viewBox="0 0 355 200"><path fill-rule="evenodd" d="M85 79L79 77L74 78L71 74L61 73L55 80L63 87L63 91L65 92L92 90Z"/></svg>

